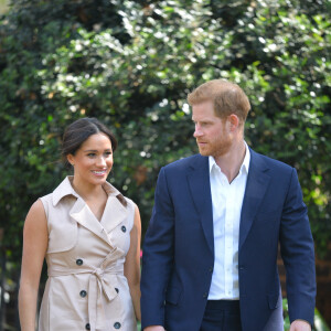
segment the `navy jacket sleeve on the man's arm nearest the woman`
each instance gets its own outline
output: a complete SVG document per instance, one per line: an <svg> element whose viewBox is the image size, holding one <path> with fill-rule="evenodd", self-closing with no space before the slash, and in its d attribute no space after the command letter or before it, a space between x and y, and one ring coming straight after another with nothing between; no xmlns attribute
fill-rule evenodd
<svg viewBox="0 0 331 331"><path fill-rule="evenodd" d="M173 265L174 210L164 168L158 178L152 216L145 235L141 270L141 329L164 325L167 285Z"/></svg>

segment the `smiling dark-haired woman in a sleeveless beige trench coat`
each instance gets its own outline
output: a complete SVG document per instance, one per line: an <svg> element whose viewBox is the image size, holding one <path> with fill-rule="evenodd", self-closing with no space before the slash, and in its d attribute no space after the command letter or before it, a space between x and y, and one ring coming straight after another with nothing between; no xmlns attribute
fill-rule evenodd
<svg viewBox="0 0 331 331"><path fill-rule="evenodd" d="M140 215L106 179L117 141L95 118L82 118L63 136L74 168L28 213L19 309L22 331L35 330L44 257L49 279L40 331L137 330L140 320Z"/></svg>

